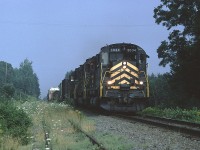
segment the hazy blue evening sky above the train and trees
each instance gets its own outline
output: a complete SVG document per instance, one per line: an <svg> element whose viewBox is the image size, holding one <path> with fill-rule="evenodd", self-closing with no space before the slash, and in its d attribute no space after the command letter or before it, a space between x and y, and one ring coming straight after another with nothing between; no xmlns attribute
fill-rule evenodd
<svg viewBox="0 0 200 150"><path fill-rule="evenodd" d="M66 72L114 43L132 43L150 56L148 73L164 73L157 48L169 34L153 18L160 0L0 0L0 61L33 62L41 98Z"/></svg>

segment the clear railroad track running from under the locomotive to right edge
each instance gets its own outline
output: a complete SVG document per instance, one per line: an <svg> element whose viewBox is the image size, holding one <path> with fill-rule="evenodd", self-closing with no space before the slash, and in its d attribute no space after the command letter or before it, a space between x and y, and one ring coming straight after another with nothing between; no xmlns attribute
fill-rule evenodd
<svg viewBox="0 0 200 150"><path fill-rule="evenodd" d="M179 121L168 118L160 118L153 116L127 116L122 114L112 114L114 117L127 119L129 121L138 121L146 124L164 127L180 133L188 134L195 137L200 137L200 124L186 121Z"/></svg>

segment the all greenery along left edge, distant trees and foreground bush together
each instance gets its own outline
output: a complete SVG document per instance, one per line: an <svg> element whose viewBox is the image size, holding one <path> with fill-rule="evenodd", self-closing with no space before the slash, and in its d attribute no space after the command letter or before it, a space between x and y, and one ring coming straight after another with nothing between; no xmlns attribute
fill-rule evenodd
<svg viewBox="0 0 200 150"><path fill-rule="evenodd" d="M39 97L40 89L32 62L25 59L19 68L0 61L0 149L17 149L31 139L32 120L20 107L22 102Z"/></svg>

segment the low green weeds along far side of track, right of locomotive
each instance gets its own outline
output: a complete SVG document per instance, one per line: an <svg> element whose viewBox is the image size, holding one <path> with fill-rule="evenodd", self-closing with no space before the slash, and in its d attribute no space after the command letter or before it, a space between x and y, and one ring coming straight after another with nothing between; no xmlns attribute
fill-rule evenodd
<svg viewBox="0 0 200 150"><path fill-rule="evenodd" d="M178 107L165 109L148 107L140 112L140 114L200 123L200 110L197 108L186 110Z"/></svg>

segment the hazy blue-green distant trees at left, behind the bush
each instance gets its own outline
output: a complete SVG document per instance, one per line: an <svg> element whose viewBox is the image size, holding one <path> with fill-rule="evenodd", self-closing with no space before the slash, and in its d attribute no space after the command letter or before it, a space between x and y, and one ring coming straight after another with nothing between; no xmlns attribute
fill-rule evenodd
<svg viewBox="0 0 200 150"><path fill-rule="evenodd" d="M8 62L0 61L0 97L11 98L40 95L39 80L32 68L32 62L25 59L19 68Z"/></svg>

